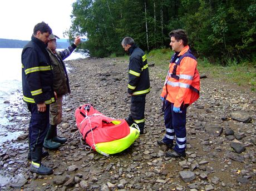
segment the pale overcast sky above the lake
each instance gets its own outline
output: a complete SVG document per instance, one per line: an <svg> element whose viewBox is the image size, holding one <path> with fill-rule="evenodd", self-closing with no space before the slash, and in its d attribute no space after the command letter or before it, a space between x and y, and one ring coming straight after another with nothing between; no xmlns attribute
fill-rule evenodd
<svg viewBox="0 0 256 191"><path fill-rule="evenodd" d="M71 26L75 0L0 0L0 38L30 40L33 28L45 21L60 38ZM67 38L67 37L66 37Z"/></svg>

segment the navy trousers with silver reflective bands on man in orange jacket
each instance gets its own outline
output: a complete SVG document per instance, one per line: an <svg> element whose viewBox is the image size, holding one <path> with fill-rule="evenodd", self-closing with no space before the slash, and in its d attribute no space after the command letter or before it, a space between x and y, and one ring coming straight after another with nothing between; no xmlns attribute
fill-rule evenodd
<svg viewBox="0 0 256 191"><path fill-rule="evenodd" d="M188 105L181 105L180 113L173 111L173 103L165 100L164 121L166 127L166 134L164 142L171 144L174 142L176 135L176 144L174 150L176 152L184 152L186 148L186 108Z"/></svg>

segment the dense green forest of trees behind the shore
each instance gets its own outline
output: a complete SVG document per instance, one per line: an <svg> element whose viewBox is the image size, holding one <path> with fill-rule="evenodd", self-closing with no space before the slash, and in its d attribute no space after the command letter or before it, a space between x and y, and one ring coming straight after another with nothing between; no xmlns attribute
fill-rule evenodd
<svg viewBox="0 0 256 191"><path fill-rule="evenodd" d="M198 57L223 64L256 57L255 0L76 0L71 18L66 33L86 36L91 56L124 54L126 36L144 51L168 48L169 32L182 28Z"/></svg>

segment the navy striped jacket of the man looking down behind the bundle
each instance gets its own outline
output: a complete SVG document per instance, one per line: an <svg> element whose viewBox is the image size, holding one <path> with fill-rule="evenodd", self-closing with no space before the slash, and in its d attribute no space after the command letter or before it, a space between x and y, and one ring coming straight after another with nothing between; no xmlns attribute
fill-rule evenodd
<svg viewBox="0 0 256 191"><path fill-rule="evenodd" d="M147 94L150 92L150 82L146 54L135 44L129 48L129 53L128 93L132 96Z"/></svg>

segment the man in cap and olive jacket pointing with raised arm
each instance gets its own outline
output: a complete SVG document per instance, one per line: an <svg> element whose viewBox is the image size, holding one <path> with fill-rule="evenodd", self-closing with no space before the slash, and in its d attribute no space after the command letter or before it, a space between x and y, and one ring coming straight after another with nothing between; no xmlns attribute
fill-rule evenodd
<svg viewBox="0 0 256 191"><path fill-rule="evenodd" d="M53 68L53 89L57 93L57 99L54 104L50 105L50 127L46 134L43 147L47 149L58 149L61 144L67 142L66 138L60 138L57 136L57 125L62 120L62 97L65 94L70 93L70 86L68 83L67 70L63 60L70 56L70 54L80 44L80 37L75 38L75 42L63 51L58 52L56 50L57 43L54 34L50 35L50 41L48 42L47 51L50 55L52 68Z"/></svg>

